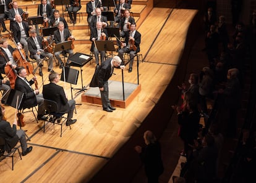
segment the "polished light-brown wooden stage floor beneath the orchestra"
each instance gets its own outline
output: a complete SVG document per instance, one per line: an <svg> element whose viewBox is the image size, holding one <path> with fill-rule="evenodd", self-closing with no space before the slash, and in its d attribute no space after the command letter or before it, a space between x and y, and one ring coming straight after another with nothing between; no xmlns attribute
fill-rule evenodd
<svg viewBox="0 0 256 183"><path fill-rule="evenodd" d="M140 53L144 57L139 67L142 91L127 108L117 108L113 113L107 113L100 105L82 103L83 92L75 95L79 90L70 89L88 87L95 68L94 62L82 67L83 83L80 76L77 85L70 86L60 81L59 85L66 88L69 99L73 97L77 104L81 104L76 105L74 118L77 118L77 123L72 125L72 129L64 125L60 137L60 126L46 124L44 133L43 121L36 123L32 113L25 113L26 126L22 129L27 130L31 139L28 144L33 146L33 151L22 157L22 160L16 155L14 171L11 170L10 158L0 161L1 182L88 182L95 176L142 125L157 104L179 65L187 30L196 14L197 10L154 8L140 24ZM78 24L83 26L87 24L85 22L86 17L83 16ZM87 30L79 30L74 36L79 37L80 34L85 34L83 38L88 39ZM90 54L90 44L75 44L74 52ZM80 68L74 68L80 71ZM40 84L48 83L46 70L44 63L44 76L41 78L37 75ZM61 73L55 63L54 70ZM121 70L114 72L116 75L111 80L121 81ZM136 83L135 70L128 73L126 68L124 81ZM6 107L10 123L14 120L14 113L14 108ZM110 175L111 179L114 179L114 174Z"/></svg>

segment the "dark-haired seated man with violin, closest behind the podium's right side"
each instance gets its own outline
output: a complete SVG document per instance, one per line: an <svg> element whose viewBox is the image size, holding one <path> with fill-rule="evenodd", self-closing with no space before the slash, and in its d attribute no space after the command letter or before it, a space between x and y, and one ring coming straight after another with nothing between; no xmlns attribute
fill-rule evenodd
<svg viewBox="0 0 256 183"><path fill-rule="evenodd" d="M118 56L122 59L122 62L124 62L124 53L130 54L129 73L132 71L135 54L140 51L141 36L142 35L140 35L139 31L136 30L135 23L132 23L130 25L130 31L124 32L124 38L126 39L126 43L122 43L122 46L124 47L118 51ZM131 49L131 46L136 46L137 49Z"/></svg>

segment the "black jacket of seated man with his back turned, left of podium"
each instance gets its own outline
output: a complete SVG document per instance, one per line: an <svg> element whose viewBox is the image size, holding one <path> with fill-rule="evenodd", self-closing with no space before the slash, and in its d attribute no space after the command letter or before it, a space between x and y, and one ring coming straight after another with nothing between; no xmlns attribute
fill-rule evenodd
<svg viewBox="0 0 256 183"><path fill-rule="evenodd" d="M68 112L69 104L63 87L55 83L49 83L43 86L43 98L53 100L58 104L59 113Z"/></svg>

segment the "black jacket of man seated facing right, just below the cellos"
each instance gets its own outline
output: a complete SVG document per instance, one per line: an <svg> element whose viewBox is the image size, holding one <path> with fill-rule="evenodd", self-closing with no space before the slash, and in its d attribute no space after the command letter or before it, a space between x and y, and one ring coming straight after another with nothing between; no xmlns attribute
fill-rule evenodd
<svg viewBox="0 0 256 183"><path fill-rule="evenodd" d="M28 83L31 86L34 81L30 80ZM35 93L30 86L17 76L14 88L24 94L20 108L30 108L37 105Z"/></svg>

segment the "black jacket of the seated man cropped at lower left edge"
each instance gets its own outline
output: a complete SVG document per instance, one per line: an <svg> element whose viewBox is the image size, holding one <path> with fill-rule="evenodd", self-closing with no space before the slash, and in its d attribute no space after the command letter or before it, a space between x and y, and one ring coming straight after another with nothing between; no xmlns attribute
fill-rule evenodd
<svg viewBox="0 0 256 183"><path fill-rule="evenodd" d="M19 137L16 132L17 128L15 124L11 127L10 123L0 120L0 137L6 140L4 148L7 152L10 152L19 141Z"/></svg>

